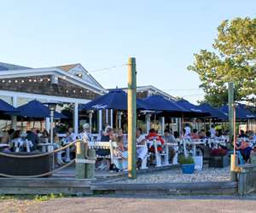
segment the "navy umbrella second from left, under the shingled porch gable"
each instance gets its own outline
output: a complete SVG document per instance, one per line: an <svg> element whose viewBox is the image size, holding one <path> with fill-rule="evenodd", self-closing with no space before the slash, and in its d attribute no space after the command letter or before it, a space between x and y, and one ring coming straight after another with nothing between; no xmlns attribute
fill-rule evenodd
<svg viewBox="0 0 256 213"><path fill-rule="evenodd" d="M43 103L37 100L30 101L27 104L18 107L17 109L20 111L19 115L25 118L49 118L50 117L49 108L44 106ZM67 117L62 115L59 112L55 112L54 118L60 119L60 118L67 118Z"/></svg>

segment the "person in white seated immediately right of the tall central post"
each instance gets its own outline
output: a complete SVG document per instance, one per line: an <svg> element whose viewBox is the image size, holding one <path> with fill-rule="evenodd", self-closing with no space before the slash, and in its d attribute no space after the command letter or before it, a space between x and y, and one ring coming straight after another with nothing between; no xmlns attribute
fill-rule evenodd
<svg viewBox="0 0 256 213"><path fill-rule="evenodd" d="M137 168L140 169L143 163L143 159L148 154L148 147L146 144L145 136L142 135L142 129L137 129Z"/></svg>

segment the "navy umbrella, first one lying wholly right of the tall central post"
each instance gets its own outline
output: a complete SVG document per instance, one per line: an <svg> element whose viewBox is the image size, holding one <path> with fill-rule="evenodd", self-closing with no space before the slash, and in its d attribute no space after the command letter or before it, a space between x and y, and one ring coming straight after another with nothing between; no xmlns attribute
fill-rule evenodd
<svg viewBox="0 0 256 213"><path fill-rule="evenodd" d="M188 112L188 110L179 106L176 101L166 99L161 95L150 95L143 99L143 104L148 110L166 111L166 112Z"/></svg>

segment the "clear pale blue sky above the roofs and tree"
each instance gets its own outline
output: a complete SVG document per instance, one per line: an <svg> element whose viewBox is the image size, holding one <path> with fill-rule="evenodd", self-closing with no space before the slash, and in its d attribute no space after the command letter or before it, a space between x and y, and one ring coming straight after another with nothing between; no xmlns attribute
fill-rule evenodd
<svg viewBox="0 0 256 213"><path fill-rule="evenodd" d="M169 89L195 102L197 74L186 67L199 49L212 49L219 23L255 17L254 0L1 1L0 61L44 67L81 63L106 88L124 87L129 56L138 85Z"/></svg>

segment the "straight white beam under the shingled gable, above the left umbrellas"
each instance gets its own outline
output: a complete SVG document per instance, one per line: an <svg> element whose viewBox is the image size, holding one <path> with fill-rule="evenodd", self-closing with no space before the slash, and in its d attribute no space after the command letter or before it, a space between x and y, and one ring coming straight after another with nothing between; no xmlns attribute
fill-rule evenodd
<svg viewBox="0 0 256 213"><path fill-rule="evenodd" d="M38 95L38 94L32 94L32 93L22 93L22 92L14 92L14 91L6 91L6 90L0 90L0 95L3 96L17 96L19 98L29 98L29 99L46 99L48 101L61 101L61 102L67 102L67 103L76 103L79 104L86 104L91 100L88 99L76 99L76 98L67 98L62 96L53 96L53 95Z"/></svg>

